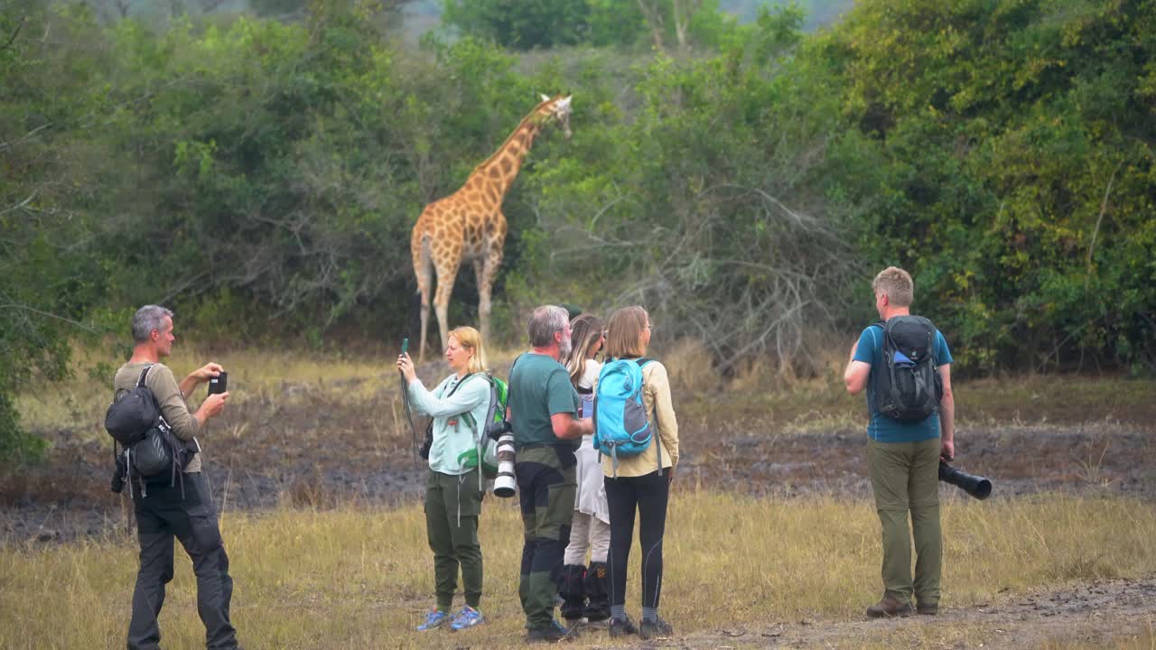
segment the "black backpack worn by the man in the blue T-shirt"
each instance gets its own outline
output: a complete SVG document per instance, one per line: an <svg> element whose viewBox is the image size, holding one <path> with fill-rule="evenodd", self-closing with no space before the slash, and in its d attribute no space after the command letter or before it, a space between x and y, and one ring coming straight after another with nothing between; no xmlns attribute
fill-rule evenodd
<svg viewBox="0 0 1156 650"><path fill-rule="evenodd" d="M921 422L938 413L943 379L935 363L935 325L922 316L894 316L875 326L883 330L875 409L899 422Z"/></svg>

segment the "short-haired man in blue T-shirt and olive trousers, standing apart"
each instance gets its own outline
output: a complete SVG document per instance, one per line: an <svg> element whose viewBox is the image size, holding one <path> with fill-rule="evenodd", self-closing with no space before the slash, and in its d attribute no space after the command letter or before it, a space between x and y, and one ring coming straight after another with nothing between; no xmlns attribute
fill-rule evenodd
<svg viewBox="0 0 1156 650"><path fill-rule="evenodd" d="M910 316L914 298L911 275L889 266L872 282L875 310L887 322ZM879 412L875 374L883 369L883 328L872 325L851 348L843 381L847 392L867 389L867 466L875 508L883 532L883 598L867 607L870 618L939 613L940 569L943 544L939 516L939 461L955 457L955 400L951 397L951 352L943 334L935 331L932 354L943 397L939 413L919 422L901 422ZM911 531L907 512L911 512ZM911 538L916 542L916 575L911 576ZM914 596L917 607L912 608Z"/></svg>

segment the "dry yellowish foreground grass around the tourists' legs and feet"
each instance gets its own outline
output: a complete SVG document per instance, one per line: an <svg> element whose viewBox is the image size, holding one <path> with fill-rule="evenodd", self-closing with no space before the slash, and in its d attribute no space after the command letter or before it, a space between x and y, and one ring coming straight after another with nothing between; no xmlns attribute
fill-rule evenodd
<svg viewBox="0 0 1156 650"><path fill-rule="evenodd" d="M783 502L683 489L689 492L676 492L672 500L662 600L679 633L750 621L852 620L877 597L879 523L868 503ZM468 635L412 631L432 600L432 562L420 507L225 512L222 527L236 581L234 619L247 648L520 643L521 533L512 502L491 498L486 504L482 607L489 622ZM944 502L943 527L943 599L953 607L1015 598L1042 585L1156 571L1150 541L1156 514L1139 501L953 500ZM637 555L631 576L638 575ZM128 539L0 551L0 647L120 645L135 564ZM194 584L187 561L178 560L162 618L166 648L203 647ZM636 616L637 586L638 579L631 579L628 608ZM876 634L879 638L859 645L924 644L916 638L922 634L918 628L894 633L894 638L887 630ZM1128 643L1141 645L1131 647L1144 647L1136 638ZM613 645L605 635L591 635L579 645L590 643Z"/></svg>

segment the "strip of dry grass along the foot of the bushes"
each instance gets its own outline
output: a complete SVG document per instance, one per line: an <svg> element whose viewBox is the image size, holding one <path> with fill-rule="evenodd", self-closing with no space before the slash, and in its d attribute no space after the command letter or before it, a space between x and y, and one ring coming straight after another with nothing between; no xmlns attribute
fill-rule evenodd
<svg viewBox="0 0 1156 650"><path fill-rule="evenodd" d="M849 396L843 389L845 354L833 345L818 349L827 350L815 360L822 372L810 378L784 378L777 363L753 360L735 377L725 379L710 367L703 345L694 340L667 346L659 357L673 379L680 418L741 421L749 429L783 433L861 429L864 398ZM490 367L504 375L520 352L488 349ZM383 386L392 390L397 382L394 353L376 349L358 354L301 350L209 354L177 347L166 363L178 379L208 360L222 363L229 370L236 402L254 398L291 401L307 392L312 398L320 396L331 402L351 404L375 397ZM123 360L77 349L76 361L74 378L53 384L50 391L17 396L16 405L28 429L69 429L97 438L104 435L101 422L111 397L109 383ZM423 374L440 372L435 363L440 363L440 357L431 355ZM1156 406L1150 399L1154 389L1156 382L1150 379L1121 377L1032 375L956 382L956 418L961 427L1084 422L1149 427L1156 421ZM1089 463L1094 465L1095 458Z"/></svg>

